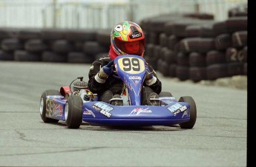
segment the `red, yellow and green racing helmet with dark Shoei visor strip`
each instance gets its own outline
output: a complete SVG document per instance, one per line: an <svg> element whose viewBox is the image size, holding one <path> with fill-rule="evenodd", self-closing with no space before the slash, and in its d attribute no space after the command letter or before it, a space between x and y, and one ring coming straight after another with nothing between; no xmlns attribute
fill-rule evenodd
<svg viewBox="0 0 256 167"><path fill-rule="evenodd" d="M145 35L142 28L132 22L123 21L111 30L111 47L116 55L140 55L145 51Z"/></svg>

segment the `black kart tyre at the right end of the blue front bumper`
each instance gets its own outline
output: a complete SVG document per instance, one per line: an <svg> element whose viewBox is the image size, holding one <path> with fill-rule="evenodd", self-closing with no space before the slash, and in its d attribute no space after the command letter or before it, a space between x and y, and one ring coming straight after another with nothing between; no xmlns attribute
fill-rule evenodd
<svg viewBox="0 0 256 167"><path fill-rule="evenodd" d="M194 127L194 123L196 123L197 120L197 106L196 103L194 103L194 99L191 98L191 96L183 96L180 97L179 102L186 102L190 105L190 120L185 123L180 123L180 128L182 129L192 129Z"/></svg>

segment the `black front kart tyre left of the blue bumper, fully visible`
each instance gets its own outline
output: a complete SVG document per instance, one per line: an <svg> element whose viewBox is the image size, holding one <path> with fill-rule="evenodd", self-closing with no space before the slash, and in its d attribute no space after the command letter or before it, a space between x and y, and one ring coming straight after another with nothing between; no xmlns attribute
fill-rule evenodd
<svg viewBox="0 0 256 167"><path fill-rule="evenodd" d="M70 95L65 106L65 120L69 129L79 129L82 123L82 98Z"/></svg>

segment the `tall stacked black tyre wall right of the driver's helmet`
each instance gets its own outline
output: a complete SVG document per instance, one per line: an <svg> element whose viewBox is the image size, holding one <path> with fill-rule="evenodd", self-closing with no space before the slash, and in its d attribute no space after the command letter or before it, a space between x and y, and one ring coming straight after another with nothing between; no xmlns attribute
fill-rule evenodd
<svg viewBox="0 0 256 167"><path fill-rule="evenodd" d="M247 16L244 10L232 11L226 21L199 13L143 20L145 59L163 75L181 81L247 75Z"/></svg>

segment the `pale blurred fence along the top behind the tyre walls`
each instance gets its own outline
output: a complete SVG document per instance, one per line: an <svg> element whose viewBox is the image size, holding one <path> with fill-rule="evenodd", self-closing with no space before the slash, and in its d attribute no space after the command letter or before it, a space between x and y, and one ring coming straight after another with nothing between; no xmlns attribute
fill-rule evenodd
<svg viewBox="0 0 256 167"><path fill-rule="evenodd" d="M57 0L0 0L0 27L110 28L119 21L140 22L165 13L210 13L228 18L228 10L247 0L130 0L106 3Z"/></svg>

